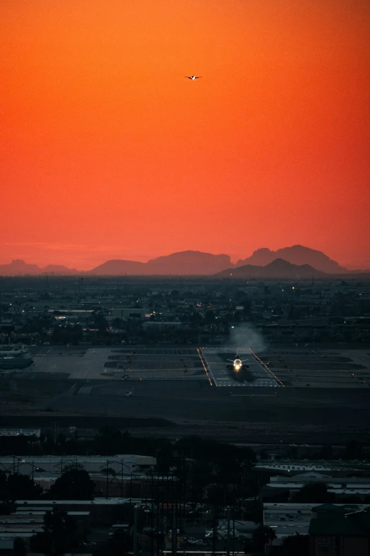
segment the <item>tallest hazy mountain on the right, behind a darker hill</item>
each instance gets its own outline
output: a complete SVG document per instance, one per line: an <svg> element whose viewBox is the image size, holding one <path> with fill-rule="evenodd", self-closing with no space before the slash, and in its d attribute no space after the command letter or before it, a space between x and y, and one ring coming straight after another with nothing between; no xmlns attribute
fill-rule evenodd
<svg viewBox="0 0 370 556"><path fill-rule="evenodd" d="M284 261L296 265L308 264L327 274L348 273L347 268L340 266L336 261L332 261L322 251L316 251L316 249L310 249L303 245L284 247L277 251L270 251L270 249L263 247L254 251L250 257L237 261L237 266L245 266L246 264L266 266L276 258L282 258Z"/></svg>

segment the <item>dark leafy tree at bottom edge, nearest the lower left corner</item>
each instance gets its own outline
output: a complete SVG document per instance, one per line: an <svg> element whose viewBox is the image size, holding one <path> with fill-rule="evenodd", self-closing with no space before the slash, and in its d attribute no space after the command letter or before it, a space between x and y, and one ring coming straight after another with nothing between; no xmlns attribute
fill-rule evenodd
<svg viewBox="0 0 370 556"><path fill-rule="evenodd" d="M53 508L45 512L43 533L30 538L30 548L45 556L62 556L76 544L75 532L74 520L65 511Z"/></svg>

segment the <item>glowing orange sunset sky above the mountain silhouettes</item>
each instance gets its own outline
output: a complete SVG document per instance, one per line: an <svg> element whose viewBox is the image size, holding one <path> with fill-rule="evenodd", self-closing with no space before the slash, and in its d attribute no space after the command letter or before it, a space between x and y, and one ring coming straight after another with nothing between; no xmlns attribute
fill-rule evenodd
<svg viewBox="0 0 370 556"><path fill-rule="evenodd" d="M0 263L370 261L369 0L3 0L0 33Z"/></svg>

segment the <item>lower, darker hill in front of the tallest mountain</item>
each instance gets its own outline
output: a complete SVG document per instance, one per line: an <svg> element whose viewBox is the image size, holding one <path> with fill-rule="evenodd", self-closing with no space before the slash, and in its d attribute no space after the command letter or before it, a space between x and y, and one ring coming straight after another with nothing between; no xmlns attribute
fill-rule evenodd
<svg viewBox="0 0 370 556"><path fill-rule="evenodd" d="M237 268L228 268L216 276L232 278L320 278L327 276L308 264L296 265L276 258L265 266L244 265Z"/></svg>

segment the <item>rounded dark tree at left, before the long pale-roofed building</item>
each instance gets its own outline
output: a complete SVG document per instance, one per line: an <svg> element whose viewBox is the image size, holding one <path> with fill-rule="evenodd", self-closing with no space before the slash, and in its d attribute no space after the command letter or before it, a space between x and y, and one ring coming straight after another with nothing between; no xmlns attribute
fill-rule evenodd
<svg viewBox="0 0 370 556"><path fill-rule="evenodd" d="M57 500L92 500L94 481L84 469L67 469L52 486L49 498Z"/></svg>

